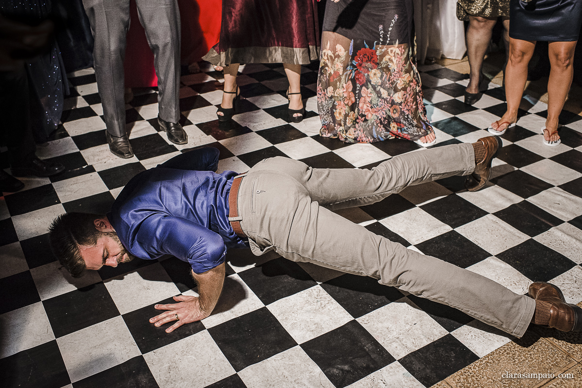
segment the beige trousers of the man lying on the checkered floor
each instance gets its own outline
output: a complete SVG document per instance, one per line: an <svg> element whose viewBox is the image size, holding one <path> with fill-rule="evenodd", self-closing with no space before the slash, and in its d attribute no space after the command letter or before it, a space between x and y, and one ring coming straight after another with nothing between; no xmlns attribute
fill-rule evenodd
<svg viewBox="0 0 582 388"><path fill-rule="evenodd" d="M371 276L521 337L535 311L533 299L406 249L331 211L378 202L406 186L467 175L474 168L473 147L466 143L396 156L372 170L265 159L240 184L240 223L257 256L275 250L289 260Z"/></svg>

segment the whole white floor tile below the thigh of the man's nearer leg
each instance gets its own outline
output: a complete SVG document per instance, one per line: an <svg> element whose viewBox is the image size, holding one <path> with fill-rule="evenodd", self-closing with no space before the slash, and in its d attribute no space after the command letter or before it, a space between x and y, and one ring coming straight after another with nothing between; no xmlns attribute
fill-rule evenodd
<svg viewBox="0 0 582 388"><path fill-rule="evenodd" d="M279 299L267 308L299 344L339 328L353 319L320 286Z"/></svg>

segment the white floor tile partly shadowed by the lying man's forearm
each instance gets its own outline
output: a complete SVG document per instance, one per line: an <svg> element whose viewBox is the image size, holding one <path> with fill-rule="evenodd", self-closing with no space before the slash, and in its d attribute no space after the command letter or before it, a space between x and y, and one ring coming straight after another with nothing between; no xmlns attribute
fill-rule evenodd
<svg viewBox="0 0 582 388"><path fill-rule="evenodd" d="M184 292L183 294L197 296L197 293L193 290ZM262 304L261 300L258 299L249 286L242 281L239 275L230 275L224 280L220 299L218 300L217 306L212 311L212 315L208 318L204 318L202 323L204 324L204 327L208 329L264 306L265 305Z"/></svg>

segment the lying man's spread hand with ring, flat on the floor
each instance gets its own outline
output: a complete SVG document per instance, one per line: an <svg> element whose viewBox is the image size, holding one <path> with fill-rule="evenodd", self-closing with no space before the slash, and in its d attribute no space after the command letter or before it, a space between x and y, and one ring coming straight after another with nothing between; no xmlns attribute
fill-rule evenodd
<svg viewBox="0 0 582 388"><path fill-rule="evenodd" d="M204 311L200 307L200 300L196 296L185 296L179 295L175 296L174 300L179 303L172 304L156 304L155 308L158 310L168 310L162 314L157 315L157 317L151 318L150 322L156 326L161 326L167 324L168 322L176 322L168 329L166 333L171 333L173 330L178 329L183 324L190 324L191 322L200 321L210 315L212 311ZM176 321L176 314L178 315L178 321Z"/></svg>

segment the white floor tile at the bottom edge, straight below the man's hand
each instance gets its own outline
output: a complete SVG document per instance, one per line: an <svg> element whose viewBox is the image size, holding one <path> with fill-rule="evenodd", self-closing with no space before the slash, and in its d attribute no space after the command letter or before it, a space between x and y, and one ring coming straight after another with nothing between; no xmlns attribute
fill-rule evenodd
<svg viewBox="0 0 582 388"><path fill-rule="evenodd" d="M144 354L159 388L204 387L233 373L206 330Z"/></svg>

